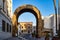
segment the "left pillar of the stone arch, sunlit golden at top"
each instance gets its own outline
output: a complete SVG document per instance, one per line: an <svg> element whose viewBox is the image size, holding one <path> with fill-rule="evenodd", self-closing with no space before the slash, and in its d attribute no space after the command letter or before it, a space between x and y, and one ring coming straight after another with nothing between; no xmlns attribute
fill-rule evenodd
<svg viewBox="0 0 60 40"><path fill-rule="evenodd" d="M12 18L12 36L15 37L17 32L18 32L17 17L14 14Z"/></svg>

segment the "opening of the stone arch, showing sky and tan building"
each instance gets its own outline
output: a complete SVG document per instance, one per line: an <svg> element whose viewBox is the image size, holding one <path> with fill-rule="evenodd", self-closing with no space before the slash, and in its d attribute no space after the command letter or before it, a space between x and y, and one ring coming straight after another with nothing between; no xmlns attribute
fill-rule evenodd
<svg viewBox="0 0 60 40"><path fill-rule="evenodd" d="M22 13L18 18L18 36L26 34L36 34L37 20L36 17L30 12ZM19 28L20 27L20 28Z"/></svg>

